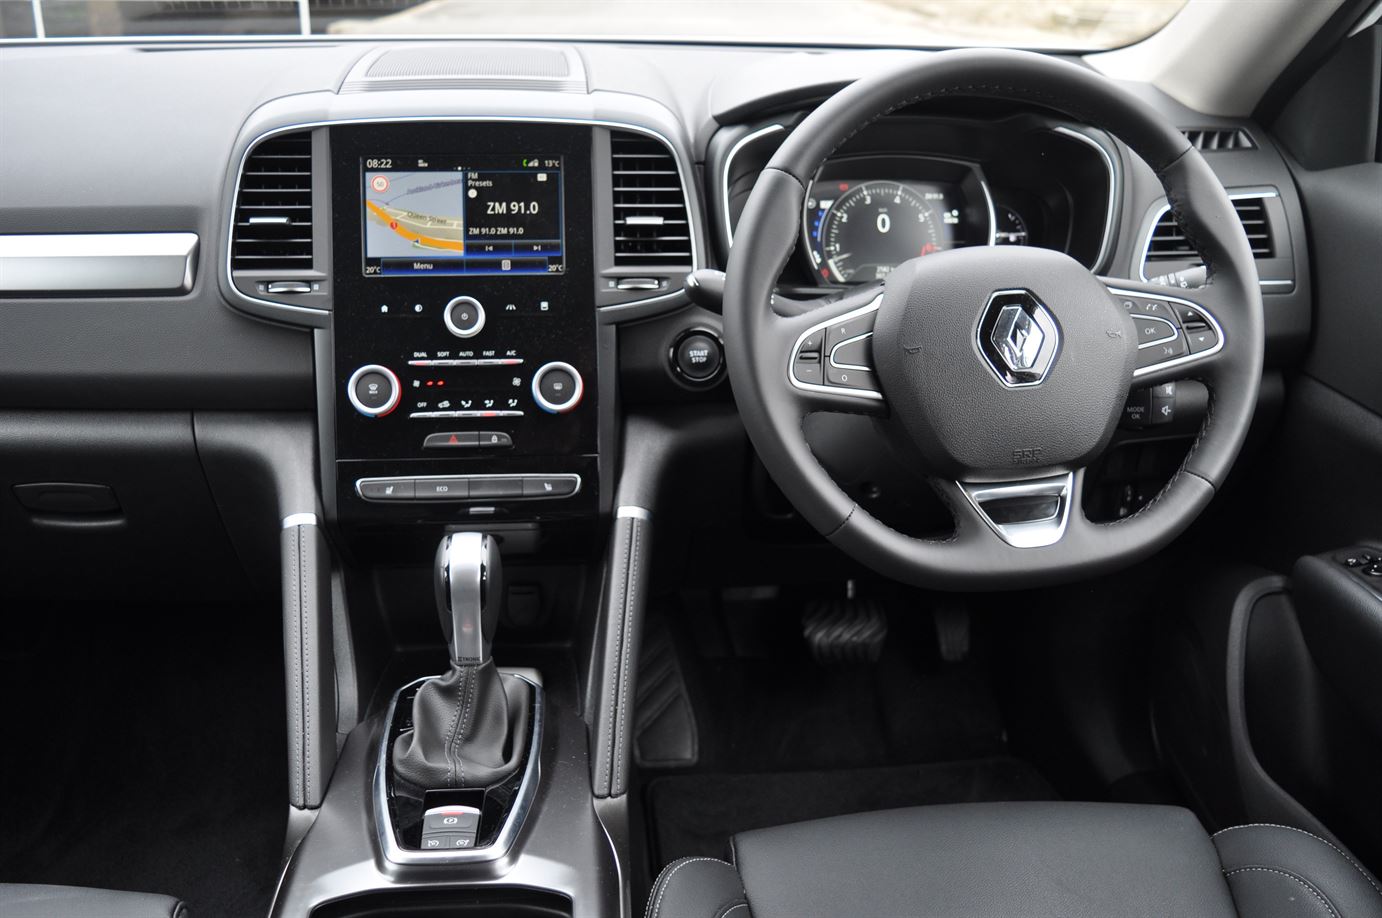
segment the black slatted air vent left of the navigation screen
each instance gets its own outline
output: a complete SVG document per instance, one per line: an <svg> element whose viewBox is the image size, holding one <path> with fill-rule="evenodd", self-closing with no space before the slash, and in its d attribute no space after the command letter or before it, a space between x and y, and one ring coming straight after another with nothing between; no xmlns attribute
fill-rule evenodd
<svg viewBox="0 0 1382 918"><path fill-rule="evenodd" d="M312 135L282 134L245 160L235 202L231 267L285 271L312 267Z"/></svg>

